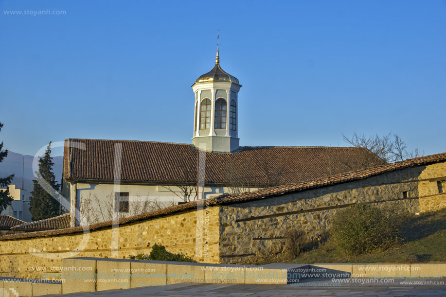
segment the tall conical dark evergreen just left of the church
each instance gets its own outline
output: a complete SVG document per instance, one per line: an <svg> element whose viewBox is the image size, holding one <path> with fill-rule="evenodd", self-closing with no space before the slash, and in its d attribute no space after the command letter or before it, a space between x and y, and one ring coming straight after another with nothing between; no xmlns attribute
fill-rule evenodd
<svg viewBox="0 0 446 297"><path fill-rule="evenodd" d="M30 211L33 216L33 221L48 219L59 215L59 202L50 194L58 191L60 186L56 183L56 177L52 172L53 165L50 141L43 157L39 157L39 172L36 172L37 177L33 179L34 188L30 197ZM39 179L46 181L51 188L42 188L37 181Z"/></svg>

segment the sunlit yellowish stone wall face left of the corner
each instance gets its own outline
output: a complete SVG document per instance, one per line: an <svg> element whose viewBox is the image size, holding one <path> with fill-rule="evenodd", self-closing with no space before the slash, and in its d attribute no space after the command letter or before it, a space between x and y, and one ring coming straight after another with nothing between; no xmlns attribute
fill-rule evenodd
<svg viewBox="0 0 446 297"><path fill-rule="evenodd" d="M0 276L59 279L57 272L60 272L62 258L128 259L130 255L150 253L154 244L164 245L171 252L187 254L199 262L216 263L219 262L218 212L218 207L213 207L123 225L119 228L117 246L111 240L117 229L111 228L88 235L3 240L0 241ZM200 229L197 230L197 226L201 226ZM39 256L33 254L33 249L48 254ZM76 249L79 252L70 253Z"/></svg>

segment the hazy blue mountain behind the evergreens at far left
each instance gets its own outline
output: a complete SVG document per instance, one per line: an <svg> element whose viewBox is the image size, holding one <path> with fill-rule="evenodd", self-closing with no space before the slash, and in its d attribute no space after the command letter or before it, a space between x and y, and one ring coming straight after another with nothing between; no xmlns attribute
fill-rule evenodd
<svg viewBox="0 0 446 297"><path fill-rule="evenodd" d="M35 179L33 174L33 159L34 156L23 156L22 154L8 151L8 156L0 163L0 176L4 177L15 174L12 184L15 184L17 188L21 188L23 180L24 189L32 191L33 179ZM60 183L62 178L63 157L53 157L53 162L53 173L56 176L56 180Z"/></svg>

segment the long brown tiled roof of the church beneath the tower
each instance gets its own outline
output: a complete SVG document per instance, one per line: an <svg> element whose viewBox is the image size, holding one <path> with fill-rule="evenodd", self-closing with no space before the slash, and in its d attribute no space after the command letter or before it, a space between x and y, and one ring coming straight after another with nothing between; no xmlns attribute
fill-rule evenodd
<svg viewBox="0 0 446 297"><path fill-rule="evenodd" d="M68 139L64 178L113 180L115 144L122 144L122 182L178 184L196 180L198 150L190 144L136 140ZM371 153L354 147L242 147L234 154L206 153L205 183L270 186L339 174L365 167ZM374 156L375 157L375 156ZM384 162L375 157L373 165Z"/></svg>

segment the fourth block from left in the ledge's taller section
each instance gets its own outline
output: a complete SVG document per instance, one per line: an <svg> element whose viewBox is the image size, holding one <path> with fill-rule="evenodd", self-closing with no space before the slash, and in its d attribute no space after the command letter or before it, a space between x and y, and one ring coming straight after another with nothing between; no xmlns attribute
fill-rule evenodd
<svg viewBox="0 0 446 297"><path fill-rule="evenodd" d="M205 266L167 264L167 284L192 282L205 282Z"/></svg>

